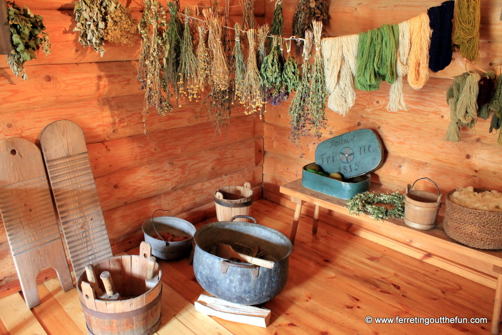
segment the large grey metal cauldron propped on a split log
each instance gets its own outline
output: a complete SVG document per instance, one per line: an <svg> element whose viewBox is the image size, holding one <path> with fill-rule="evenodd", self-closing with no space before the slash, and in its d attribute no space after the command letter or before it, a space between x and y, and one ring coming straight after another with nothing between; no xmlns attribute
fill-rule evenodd
<svg viewBox="0 0 502 335"><path fill-rule="evenodd" d="M242 215L237 215L242 216ZM233 218L232 218L233 219ZM288 280L291 241L282 233L255 223L221 221L202 226L194 236L195 278L210 294L233 303L256 305L278 295ZM273 269L233 262L215 254L218 243L259 246Z"/></svg>

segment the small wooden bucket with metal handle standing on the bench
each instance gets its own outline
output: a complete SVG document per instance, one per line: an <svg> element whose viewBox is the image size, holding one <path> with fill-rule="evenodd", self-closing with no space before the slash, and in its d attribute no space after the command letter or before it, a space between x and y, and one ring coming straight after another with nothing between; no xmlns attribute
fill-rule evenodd
<svg viewBox="0 0 502 335"><path fill-rule="evenodd" d="M412 186L408 184L405 194L405 224L411 228L429 230L436 225L439 208L441 207L441 194L434 181L438 194L426 191L413 191L415 183L425 177L415 180Z"/></svg>

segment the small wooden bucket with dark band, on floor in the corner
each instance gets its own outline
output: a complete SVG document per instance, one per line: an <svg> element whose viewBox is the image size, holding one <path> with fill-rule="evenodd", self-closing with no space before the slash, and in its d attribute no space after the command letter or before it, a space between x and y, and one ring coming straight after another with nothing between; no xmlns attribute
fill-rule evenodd
<svg viewBox="0 0 502 335"><path fill-rule="evenodd" d="M216 204L216 217L218 221L230 221L235 215L251 215L253 204L253 190L251 184L244 186L226 186L214 192ZM235 221L245 222L245 218L237 218Z"/></svg>

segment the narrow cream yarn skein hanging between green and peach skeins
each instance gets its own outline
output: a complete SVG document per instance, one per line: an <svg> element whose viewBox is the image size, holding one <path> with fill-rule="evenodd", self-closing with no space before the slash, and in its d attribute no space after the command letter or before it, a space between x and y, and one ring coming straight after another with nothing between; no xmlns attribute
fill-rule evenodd
<svg viewBox="0 0 502 335"><path fill-rule="evenodd" d="M389 104L387 110L408 110L403 94L403 76L408 74L408 57L410 55L410 24L408 21L401 22L399 28L399 47L396 58L396 81L389 91Z"/></svg>

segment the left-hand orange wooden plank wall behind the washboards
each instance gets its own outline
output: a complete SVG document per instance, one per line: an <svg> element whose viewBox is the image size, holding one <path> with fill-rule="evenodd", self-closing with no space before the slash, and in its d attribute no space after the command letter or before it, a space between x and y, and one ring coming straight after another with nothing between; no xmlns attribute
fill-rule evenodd
<svg viewBox="0 0 502 335"><path fill-rule="evenodd" d="M162 3L165 5L166 1ZM186 0L185 5L207 2ZM158 208L198 222L215 215L213 192L249 181L261 197L263 122L234 110L230 126L215 133L200 103L175 108L172 115L147 117L143 134L144 94L136 79L140 45L106 44L101 58L77 41L75 1L24 0L44 17L52 54L25 66L29 80L15 77L0 57L0 139L22 137L39 144L49 123L69 119L83 130L113 253L143 239L142 223ZM136 18L142 2L123 1ZM240 21L238 0L230 2L230 19ZM257 16L265 13L256 2ZM157 213L157 215L163 215ZM168 214L164 214L168 215ZM39 275L42 281L51 271ZM4 225L0 224L0 297L19 291Z"/></svg>

